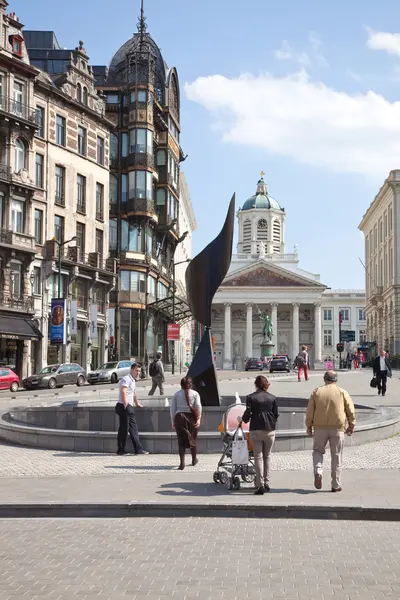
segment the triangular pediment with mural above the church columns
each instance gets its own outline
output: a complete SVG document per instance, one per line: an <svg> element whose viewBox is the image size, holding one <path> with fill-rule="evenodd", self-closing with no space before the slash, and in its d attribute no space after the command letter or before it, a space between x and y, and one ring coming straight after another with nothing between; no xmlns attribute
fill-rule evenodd
<svg viewBox="0 0 400 600"><path fill-rule="evenodd" d="M318 281L308 280L300 275L279 268L277 270L259 266L242 273L231 273L221 287L317 287L325 286Z"/></svg>

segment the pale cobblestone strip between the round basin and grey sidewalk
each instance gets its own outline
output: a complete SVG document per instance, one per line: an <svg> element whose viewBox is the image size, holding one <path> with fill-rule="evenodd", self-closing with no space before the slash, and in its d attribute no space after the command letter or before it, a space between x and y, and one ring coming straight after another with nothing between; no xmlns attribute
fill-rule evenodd
<svg viewBox="0 0 400 600"><path fill-rule="evenodd" d="M351 446L346 438L344 469L400 468L400 435L380 442ZM196 471L214 471L218 454L203 454ZM326 461L329 460L329 450ZM59 450L38 450L0 443L1 477L48 477L54 475L111 475L130 472L149 473L172 471L177 457L169 454L149 456L116 456L115 454L74 453ZM311 452L277 452L272 457L275 471L306 471L311 469Z"/></svg>

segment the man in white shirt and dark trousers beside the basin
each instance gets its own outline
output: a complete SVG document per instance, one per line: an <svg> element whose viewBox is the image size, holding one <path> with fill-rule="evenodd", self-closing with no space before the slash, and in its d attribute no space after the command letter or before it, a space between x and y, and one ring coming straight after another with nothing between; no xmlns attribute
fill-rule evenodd
<svg viewBox="0 0 400 600"><path fill-rule="evenodd" d="M127 454L125 447L128 432L131 436L135 454L148 454L140 443L139 430L135 419L135 410L133 408L134 404L138 408L143 408L136 396L136 380L139 377L139 374L140 366L137 363L132 363L130 374L123 377L120 381L119 399L115 405L115 412L119 417L117 454L120 456Z"/></svg>

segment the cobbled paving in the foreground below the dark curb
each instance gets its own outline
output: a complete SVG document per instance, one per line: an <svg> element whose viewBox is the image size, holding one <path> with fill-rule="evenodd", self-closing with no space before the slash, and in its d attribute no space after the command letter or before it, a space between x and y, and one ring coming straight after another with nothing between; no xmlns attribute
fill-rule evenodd
<svg viewBox="0 0 400 600"><path fill-rule="evenodd" d="M266 519L0 521L0 600L387 600L400 524Z"/></svg>

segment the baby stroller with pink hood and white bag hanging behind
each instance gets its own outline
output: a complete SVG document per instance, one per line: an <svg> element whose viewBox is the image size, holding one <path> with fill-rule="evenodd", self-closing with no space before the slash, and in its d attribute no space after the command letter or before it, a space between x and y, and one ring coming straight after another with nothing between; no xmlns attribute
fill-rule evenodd
<svg viewBox="0 0 400 600"><path fill-rule="evenodd" d="M253 450L249 439L249 425L238 425L238 417L245 411L243 404L232 404L224 415L219 431L223 434L224 451L219 459L217 470L214 472L214 483L222 483L229 490L239 490L241 480L245 483L254 483L256 472L254 467ZM234 465L232 462L232 443L235 439L246 439L249 446L249 460L247 465Z"/></svg>

